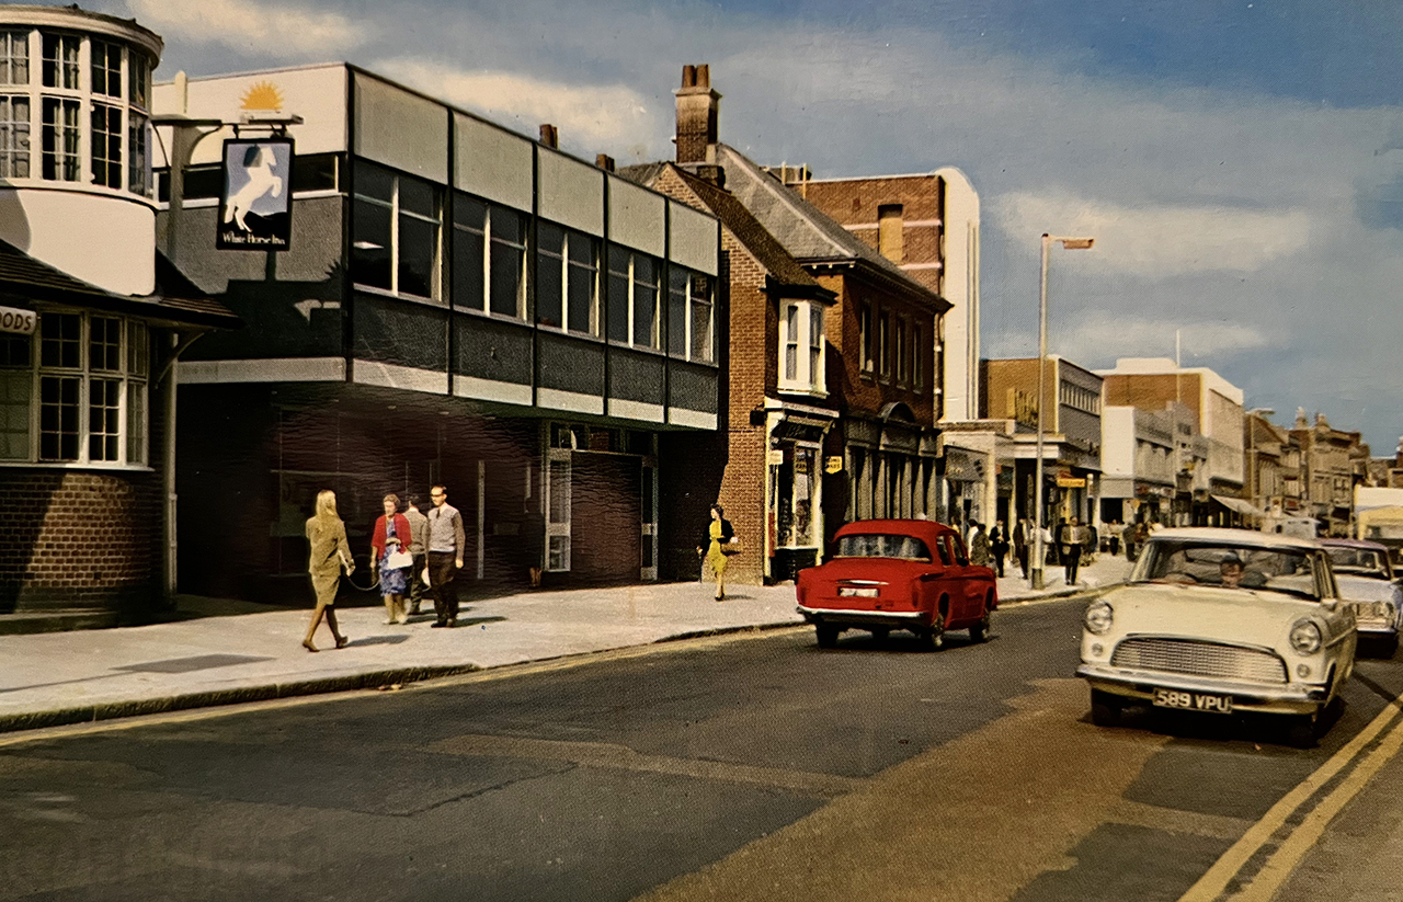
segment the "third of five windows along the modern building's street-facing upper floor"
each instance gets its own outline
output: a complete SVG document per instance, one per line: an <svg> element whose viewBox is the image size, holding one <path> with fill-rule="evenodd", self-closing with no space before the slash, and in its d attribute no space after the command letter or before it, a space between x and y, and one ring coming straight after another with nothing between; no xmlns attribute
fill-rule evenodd
<svg viewBox="0 0 1403 902"><path fill-rule="evenodd" d="M542 222L536 226L536 321L599 334L599 240Z"/></svg>

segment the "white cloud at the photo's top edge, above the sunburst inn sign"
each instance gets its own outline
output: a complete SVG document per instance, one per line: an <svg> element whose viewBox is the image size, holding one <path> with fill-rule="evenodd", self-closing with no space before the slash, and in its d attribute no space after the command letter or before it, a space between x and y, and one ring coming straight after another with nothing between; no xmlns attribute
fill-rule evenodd
<svg viewBox="0 0 1403 902"><path fill-rule="evenodd" d="M290 7L257 0L126 0L142 25L167 41L222 43L258 56L314 55L318 60L361 46L365 25L341 13Z"/></svg>

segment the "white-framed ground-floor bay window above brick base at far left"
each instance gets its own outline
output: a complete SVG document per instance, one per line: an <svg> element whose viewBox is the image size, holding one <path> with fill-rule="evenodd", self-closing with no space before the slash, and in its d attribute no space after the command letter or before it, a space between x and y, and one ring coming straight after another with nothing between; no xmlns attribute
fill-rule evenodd
<svg viewBox="0 0 1403 902"><path fill-rule="evenodd" d="M95 313L43 313L36 335L0 341L0 460L145 466L149 341Z"/></svg>

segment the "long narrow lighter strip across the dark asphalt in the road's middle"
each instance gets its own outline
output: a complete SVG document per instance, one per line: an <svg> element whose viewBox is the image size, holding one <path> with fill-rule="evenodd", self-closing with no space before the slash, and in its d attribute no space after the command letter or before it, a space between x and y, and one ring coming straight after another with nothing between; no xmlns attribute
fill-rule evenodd
<svg viewBox="0 0 1403 902"><path fill-rule="evenodd" d="M570 762L589 767L613 767L640 773L665 773L699 780L746 783L779 790L836 798L867 786L867 780L829 773L756 767L728 762L668 755L645 755L626 745L612 742L567 742L558 739L528 739L523 736L464 735L439 739L428 752L445 755L483 755L494 758L526 758L536 760Z"/></svg>

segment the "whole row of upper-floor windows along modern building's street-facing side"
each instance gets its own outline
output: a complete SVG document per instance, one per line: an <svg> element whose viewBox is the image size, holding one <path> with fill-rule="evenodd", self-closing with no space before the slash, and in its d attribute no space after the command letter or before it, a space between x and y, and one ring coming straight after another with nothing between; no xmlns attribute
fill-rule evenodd
<svg viewBox="0 0 1403 902"><path fill-rule="evenodd" d="M459 191L445 230L442 188L372 163L356 161L354 184L351 281L361 288L714 359L706 274L547 220L532 234L528 213Z"/></svg>

